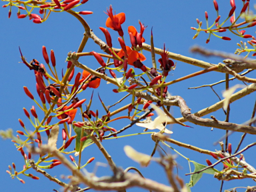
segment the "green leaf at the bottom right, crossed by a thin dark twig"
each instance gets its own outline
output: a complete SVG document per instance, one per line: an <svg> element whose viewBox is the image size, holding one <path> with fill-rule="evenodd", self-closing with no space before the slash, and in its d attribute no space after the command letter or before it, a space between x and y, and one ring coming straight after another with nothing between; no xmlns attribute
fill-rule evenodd
<svg viewBox="0 0 256 192"><path fill-rule="evenodd" d="M201 169L204 169L205 167L208 167L208 166L199 164L195 161L191 161L191 162L195 166L195 170L193 172L197 172L197 171L200 171ZM191 191L190 187L193 187L199 181L199 179L201 179L201 177L203 176L203 173L208 173L208 174L214 175L215 172L219 172L219 171L217 169L214 169L214 168L209 168L209 169L206 169L205 171L202 171L200 173L195 173L195 174L191 175L189 183L186 183L187 191Z"/></svg>

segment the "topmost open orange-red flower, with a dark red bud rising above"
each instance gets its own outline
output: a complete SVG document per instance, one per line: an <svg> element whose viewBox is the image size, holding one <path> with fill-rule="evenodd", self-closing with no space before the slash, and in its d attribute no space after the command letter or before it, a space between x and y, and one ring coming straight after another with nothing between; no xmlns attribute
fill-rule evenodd
<svg viewBox="0 0 256 192"><path fill-rule="evenodd" d="M106 26L117 31L121 37L123 37L123 29L121 27L121 24L125 22L125 13L118 13L117 15L113 15L113 9L110 5L109 9L107 9L107 15L109 15L109 18L107 18Z"/></svg>

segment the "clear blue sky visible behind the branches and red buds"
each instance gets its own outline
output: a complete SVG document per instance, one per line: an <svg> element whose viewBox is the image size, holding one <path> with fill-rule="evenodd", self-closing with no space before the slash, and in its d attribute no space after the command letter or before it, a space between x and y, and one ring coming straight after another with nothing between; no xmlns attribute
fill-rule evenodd
<svg viewBox="0 0 256 192"><path fill-rule="evenodd" d="M237 1L237 10L241 9L242 3ZM1 5L5 5L5 2L1 1ZM212 58L212 57L202 57L201 55L196 55L189 52L189 48L192 45L201 45L207 49L217 49L219 51L225 51L233 53L237 49L236 43L240 40L238 37L231 35L231 33L223 33L223 36L231 37L232 41L224 41L218 39L217 37L211 37L211 41L208 44L205 44L205 41L208 37L206 33L200 33L199 37L192 39L195 35L195 31L191 30L190 27L197 27L197 22L195 19L203 21L203 28L205 28L205 11L209 14L209 22L213 22L217 17L215 9L213 7L212 1L203 1L203 0L183 0L183 1L167 1L162 0L158 1L88 1L85 5L82 5L75 9L75 11L93 11L93 15L83 16L95 35L99 38L105 40L105 37L99 27L105 27L105 21L107 15L104 11L107 10L109 5L113 5L113 10L116 13L124 12L126 14L126 21L123 23L122 27L125 32L125 39L129 42L129 36L127 35L127 27L130 25L135 26L139 29L140 20L141 23L147 25L145 29L144 37L146 39L145 43L150 43L151 27L153 27L154 43L155 47L163 48L163 43L173 53L179 53L187 57L194 57L195 59L201 59L209 63L217 64L222 62L222 59ZM251 7L252 8L252 7ZM223 18L228 15L231 6L229 1L219 1L219 15L223 15ZM17 19L16 11L17 9L13 7L11 18L8 19L9 8L1 8L0 19L2 27L0 29L0 54L2 60L2 69L0 71L1 79L1 100L0 100L0 119L1 119L1 128L0 129L13 129L13 132L17 130L22 130L22 127L19 125L17 119L22 119L26 125L31 130L33 127L27 121L24 113L23 107L30 109L32 105L35 105L23 91L23 86L29 88L33 95L37 96L35 90L35 77L33 71L29 71L25 65L21 62L19 55L19 46L23 52L23 55L27 58L27 61L32 59L37 59L39 62L43 63L43 55L41 53L42 46L47 47L48 53L53 49L55 51L55 57L57 61L57 69L59 70L59 75L61 75L61 69L65 69L67 63L65 63L65 58L69 51L77 51L77 48L83 37L83 27L80 25L79 21L75 19L69 13L51 13L49 19L45 23L35 24L29 19ZM38 10L34 10L35 13L38 13ZM22 13L22 12L21 12ZM221 19L223 19L221 18ZM223 21L223 20L221 20ZM109 29L113 41L113 46L118 47L119 43L117 41L116 31L111 31ZM224 35L225 34L225 35ZM253 31L248 33L253 35ZM101 50L91 39L89 39L87 45L84 49L85 52L88 51L98 51ZM151 67L151 57L149 53L144 51L147 60L144 61L144 64ZM157 59L160 57L157 56ZM99 63L93 57L81 57L79 61L92 69L99 67ZM177 69L169 73L167 81L189 75L196 71L201 70L199 67L189 65L187 63L177 62ZM76 69L76 73L79 69ZM81 71L81 70L80 70ZM250 73L248 76L253 77L255 73ZM175 83L169 86L168 90L172 95L180 95L185 99L187 105L191 108L191 111L195 113L200 109L204 109L210 105L213 105L218 101L217 96L211 91L209 87L201 89L187 89L189 87L196 87L203 84L215 83L219 80L225 79L225 74L211 72L205 75L200 75L199 77L194 77L193 79L182 81L181 83ZM238 81L232 81L231 85L242 84ZM225 89L225 84L220 84L214 87L215 91L221 95L221 91ZM101 81L99 89L95 90L95 97L93 97L92 109L96 111L99 109L100 115L104 115L103 108L99 99L97 98L97 93L101 95L101 99L105 102L105 105L112 105L118 99L124 95L122 93L115 94L111 90L115 89L113 85L107 85L104 81ZM91 92L93 89L87 89L81 93L81 99L86 98L88 102L91 97ZM83 98L82 98L83 97ZM37 98L39 101L39 98ZM231 116L230 121L233 123L243 123L251 117L251 112L253 111L253 105L255 100L255 93L247 96L246 98L241 99L241 101L236 101L231 105ZM125 103L131 102L131 98L125 100ZM121 107L117 105L117 107ZM117 108L116 108L117 109ZM181 117L181 113L177 107L173 107L173 115L175 117ZM37 109L39 113L39 109ZM39 113L40 114L40 113ZM43 115L43 114L41 114ZM225 115L222 110L219 110L213 113L217 119L224 121ZM207 116L209 117L209 116ZM81 119L77 119L81 121ZM115 129L121 129L125 125L129 124L129 121L119 120L117 123L113 123ZM213 142L217 141L225 131L213 129L211 131L210 127L201 127L197 125L191 125L194 129L188 127L181 127L179 125L173 125L169 127L172 129L173 135L171 138L176 139L184 143L189 143L203 149L209 149L215 151L219 150L219 146L213 146ZM63 128L63 127L61 127ZM132 133L140 133L143 131L141 127L131 127L123 133L124 135ZM234 133L229 137L229 141L233 145L233 149L237 146L241 133ZM245 142L242 147L245 147L249 143L255 141L253 135L247 135ZM141 173L149 179L154 179L159 183L165 183L168 185L165 173L157 163L151 163L147 168L141 168L138 163L133 162L131 159L126 157L123 147L125 145L131 145L137 151L142 153L151 154L153 150L154 143L151 140L150 135L140 135L133 137L125 137L118 139L111 139L103 141L103 146L109 151L110 155L113 157L113 161L125 169L126 167L134 166L140 169ZM175 145L171 145L177 151L185 155L187 158L197 161L198 163L206 164L205 159L210 159L214 162L212 157L207 155L202 155L197 152L189 151L188 149L183 149ZM71 147L72 148L72 147ZM71 150L71 148L69 150ZM174 151L163 146L167 153L175 154ZM245 158L248 163L253 163L253 150L245 152ZM0 184L2 191L52 191L53 189L60 190L61 187L52 181L44 178L43 175L35 173L33 170L29 170L27 173L32 173L40 177L39 181L35 181L28 177L22 176L21 179L24 179L26 184L23 185L17 179L9 178L9 175L5 173L5 170L8 169L8 165L15 163L17 170L21 170L23 167L23 157L21 157L20 152L15 149L15 146L11 141L0 139ZM157 154L159 156L159 154ZM95 170L95 163L101 162L106 163L106 160L101 155L100 151L94 146L87 147L83 152L83 161L95 157L95 161L88 165L87 171ZM37 157L35 157L37 158ZM177 163L179 168L179 176L184 179L185 183L189 182L189 176L185 176L185 173L189 173L189 166L186 159L182 157L177 157ZM253 165L253 164L252 164ZM219 166L221 169L222 166ZM218 169L218 167L217 167ZM58 166L55 169L47 170L49 174L60 178L61 175L71 175L71 173L64 167ZM111 175L109 167L98 167L97 176ZM63 180L65 181L65 180ZM66 181L67 182L67 181ZM217 181L213 178L213 175L203 175L203 178L193 187L192 191L217 191L220 187L220 181ZM253 181L247 179L242 181L231 181L225 182L223 189L230 189L232 187L248 185L255 185ZM127 189L127 191L145 191L143 189ZM244 190L243 190L244 191Z"/></svg>

